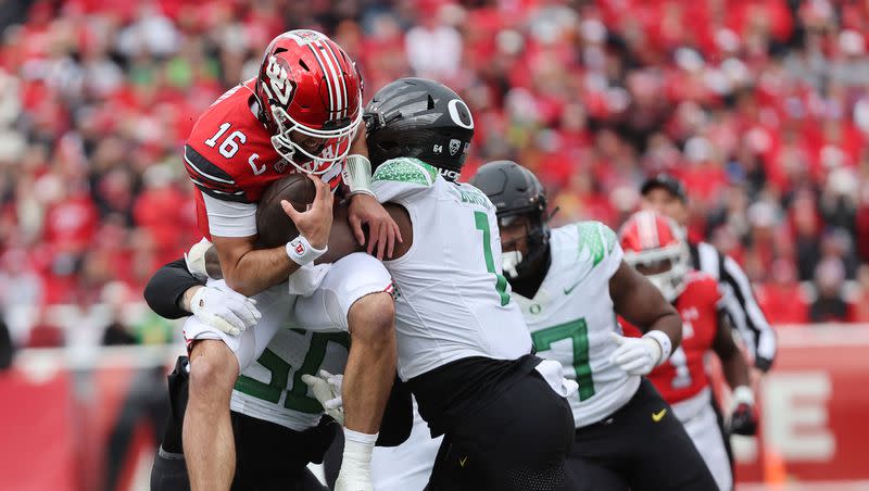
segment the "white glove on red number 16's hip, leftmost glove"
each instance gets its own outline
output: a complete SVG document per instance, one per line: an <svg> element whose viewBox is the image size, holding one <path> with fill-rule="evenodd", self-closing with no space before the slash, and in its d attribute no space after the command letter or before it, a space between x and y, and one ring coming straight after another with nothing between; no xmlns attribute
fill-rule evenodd
<svg viewBox="0 0 869 491"><path fill-rule="evenodd" d="M263 316L256 301L235 291L202 287L190 299L190 312L203 324L238 336Z"/></svg>

